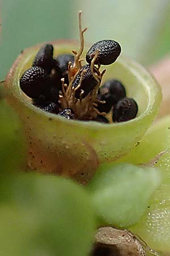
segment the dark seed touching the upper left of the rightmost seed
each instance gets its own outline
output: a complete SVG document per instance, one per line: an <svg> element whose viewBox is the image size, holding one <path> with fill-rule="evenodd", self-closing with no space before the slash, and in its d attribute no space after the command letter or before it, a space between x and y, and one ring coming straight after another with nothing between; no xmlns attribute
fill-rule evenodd
<svg viewBox="0 0 170 256"><path fill-rule="evenodd" d="M118 80L109 80L99 89L98 100L105 101L99 103L97 109L100 112L108 113L112 106L126 96L124 85Z"/></svg>

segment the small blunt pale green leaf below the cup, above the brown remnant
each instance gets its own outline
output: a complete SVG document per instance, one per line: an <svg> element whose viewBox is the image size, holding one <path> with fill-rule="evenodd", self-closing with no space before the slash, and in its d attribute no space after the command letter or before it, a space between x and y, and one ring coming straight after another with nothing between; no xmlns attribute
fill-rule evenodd
<svg viewBox="0 0 170 256"><path fill-rule="evenodd" d="M103 164L87 189L100 220L107 225L128 228L145 213L160 180L156 168L126 163Z"/></svg>

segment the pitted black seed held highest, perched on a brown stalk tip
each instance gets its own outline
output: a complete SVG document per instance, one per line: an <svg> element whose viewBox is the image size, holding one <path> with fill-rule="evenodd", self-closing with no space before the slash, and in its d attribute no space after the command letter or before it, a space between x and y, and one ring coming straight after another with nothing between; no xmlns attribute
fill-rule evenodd
<svg viewBox="0 0 170 256"><path fill-rule="evenodd" d="M116 61L121 53L121 46L113 40L102 40L95 43L87 52L86 61L91 63L95 53L99 49L99 55L96 59L96 64L109 65Z"/></svg>

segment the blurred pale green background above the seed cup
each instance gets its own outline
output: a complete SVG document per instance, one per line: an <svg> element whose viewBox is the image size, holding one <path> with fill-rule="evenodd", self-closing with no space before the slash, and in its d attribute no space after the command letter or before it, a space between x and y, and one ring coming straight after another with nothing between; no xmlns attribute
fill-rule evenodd
<svg viewBox="0 0 170 256"><path fill-rule="evenodd" d="M1 0L0 79L25 47L77 39L78 10L88 27L86 43L118 40L124 55L144 65L169 51L169 0Z"/></svg>

